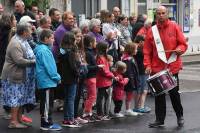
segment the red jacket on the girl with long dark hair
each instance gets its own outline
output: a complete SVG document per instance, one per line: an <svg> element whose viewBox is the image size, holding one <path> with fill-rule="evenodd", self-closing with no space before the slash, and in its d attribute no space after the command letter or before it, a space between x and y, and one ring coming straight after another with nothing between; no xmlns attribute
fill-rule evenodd
<svg viewBox="0 0 200 133"><path fill-rule="evenodd" d="M104 56L97 57L97 65L105 65L97 72L97 88L109 87L112 85L113 73L110 71L108 60Z"/></svg>

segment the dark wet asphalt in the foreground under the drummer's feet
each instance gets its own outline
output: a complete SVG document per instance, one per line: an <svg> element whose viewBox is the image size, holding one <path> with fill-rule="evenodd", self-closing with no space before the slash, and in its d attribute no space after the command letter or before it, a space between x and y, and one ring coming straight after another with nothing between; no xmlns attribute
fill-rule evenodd
<svg viewBox="0 0 200 133"><path fill-rule="evenodd" d="M81 128L63 128L62 133L200 133L200 92L181 93L182 103L184 107L185 126L178 128L176 116L171 106L169 97L167 96L167 116L165 127L148 128L148 123L155 120L154 116L154 98L149 96L147 105L152 108L151 113L136 117L125 117L120 119L112 119L110 121L101 121L90 123ZM33 111L30 116L33 118L33 127L23 130L8 129L8 121L0 119L1 133L38 133L44 132L39 130L39 110ZM54 113L56 122L62 120L62 113ZM46 131L47 132L47 131Z"/></svg>

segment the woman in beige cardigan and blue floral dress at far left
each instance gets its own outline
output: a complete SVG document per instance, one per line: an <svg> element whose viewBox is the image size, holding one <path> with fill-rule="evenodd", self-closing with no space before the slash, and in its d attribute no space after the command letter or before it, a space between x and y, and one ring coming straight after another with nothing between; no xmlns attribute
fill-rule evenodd
<svg viewBox="0 0 200 133"><path fill-rule="evenodd" d="M2 70L3 105L11 107L9 128L27 128L22 122L22 106L34 103L35 56L27 42L31 36L30 24L17 25L16 35L11 39ZM27 95L28 94L28 95Z"/></svg>

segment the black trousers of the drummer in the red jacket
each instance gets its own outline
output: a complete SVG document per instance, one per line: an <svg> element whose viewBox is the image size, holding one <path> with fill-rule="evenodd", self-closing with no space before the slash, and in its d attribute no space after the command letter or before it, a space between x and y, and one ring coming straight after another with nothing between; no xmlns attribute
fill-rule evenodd
<svg viewBox="0 0 200 133"><path fill-rule="evenodd" d="M183 107L181 104L181 98L179 94L179 78L178 74L174 74L175 78L177 79L177 86L170 90L169 96L171 99L172 106L176 113L177 118L183 116ZM159 95L155 97L155 113L156 113L156 120L160 122L164 122L166 117L166 98L165 94Z"/></svg>

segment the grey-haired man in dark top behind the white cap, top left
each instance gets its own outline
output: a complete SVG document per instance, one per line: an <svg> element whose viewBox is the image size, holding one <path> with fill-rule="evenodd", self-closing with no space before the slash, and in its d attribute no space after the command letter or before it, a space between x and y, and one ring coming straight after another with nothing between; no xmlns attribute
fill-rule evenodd
<svg viewBox="0 0 200 133"><path fill-rule="evenodd" d="M15 2L14 15L16 17L17 22L20 21L21 17L26 16L26 15L31 17L31 19L35 20L34 14L32 12L30 12L30 11L26 11L25 10L25 5L24 5L24 2L22 0L17 0Z"/></svg>

